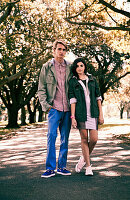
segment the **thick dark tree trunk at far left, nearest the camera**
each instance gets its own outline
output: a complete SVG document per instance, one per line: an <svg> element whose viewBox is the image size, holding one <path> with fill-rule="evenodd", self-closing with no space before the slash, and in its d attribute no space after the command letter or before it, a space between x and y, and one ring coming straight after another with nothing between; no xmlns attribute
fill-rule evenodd
<svg viewBox="0 0 130 200"><path fill-rule="evenodd" d="M8 108L8 125L7 128L19 128L17 123L18 120L18 109L16 105L11 105Z"/></svg>

